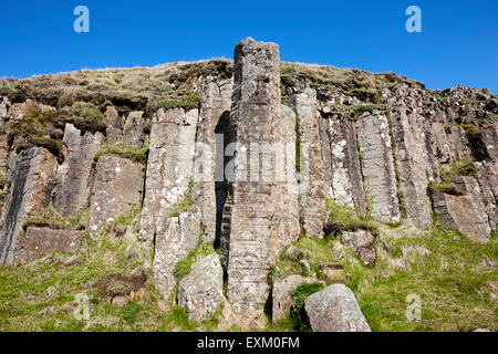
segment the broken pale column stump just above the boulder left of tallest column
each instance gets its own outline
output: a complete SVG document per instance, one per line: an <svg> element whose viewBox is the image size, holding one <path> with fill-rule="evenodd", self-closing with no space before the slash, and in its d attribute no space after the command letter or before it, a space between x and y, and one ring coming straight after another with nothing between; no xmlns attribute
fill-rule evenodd
<svg viewBox="0 0 498 354"><path fill-rule="evenodd" d="M197 217L184 212L179 217L162 219L156 232L154 278L167 298L176 285L175 266L196 248L200 238Z"/></svg>

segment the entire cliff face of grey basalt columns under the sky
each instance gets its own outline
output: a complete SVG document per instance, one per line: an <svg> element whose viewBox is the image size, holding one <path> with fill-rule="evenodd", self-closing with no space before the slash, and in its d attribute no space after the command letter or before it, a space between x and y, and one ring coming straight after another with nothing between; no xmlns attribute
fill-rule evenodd
<svg viewBox="0 0 498 354"><path fill-rule="evenodd" d="M261 319L280 253L300 233L325 236L325 200L475 242L496 235L498 97L487 90L429 91L393 73L281 63L277 44L252 39L237 44L234 63L127 74L128 86L106 88L85 86L91 72L0 80L9 88L0 96L0 266L77 248L82 230L28 225L52 205L61 216L87 214L94 236L138 208L137 242L154 248L165 295L179 287L196 320L221 303ZM374 239L366 228L342 235L367 266ZM179 262L206 242L221 262L206 256L181 280ZM284 290L273 288L278 317L292 302ZM369 331L351 296L328 288L310 298L313 329Z"/></svg>

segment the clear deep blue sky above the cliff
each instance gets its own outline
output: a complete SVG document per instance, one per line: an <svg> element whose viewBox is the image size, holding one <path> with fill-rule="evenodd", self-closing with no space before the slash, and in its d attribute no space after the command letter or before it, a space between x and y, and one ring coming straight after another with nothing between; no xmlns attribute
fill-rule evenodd
<svg viewBox="0 0 498 354"><path fill-rule="evenodd" d="M90 33L75 33L76 6ZM408 33L408 6L422 33ZM246 37L280 44L281 59L393 71L428 88L498 93L498 1L2 1L0 76L151 66L232 58Z"/></svg>

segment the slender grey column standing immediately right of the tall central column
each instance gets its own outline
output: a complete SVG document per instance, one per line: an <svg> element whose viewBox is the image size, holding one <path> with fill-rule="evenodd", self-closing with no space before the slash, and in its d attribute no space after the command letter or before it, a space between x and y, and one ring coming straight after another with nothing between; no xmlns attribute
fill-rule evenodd
<svg viewBox="0 0 498 354"><path fill-rule="evenodd" d="M323 162L320 144L317 92L307 88L304 93L290 98L294 107L301 133L301 184L302 228L307 236L323 238L325 220L325 196Z"/></svg>

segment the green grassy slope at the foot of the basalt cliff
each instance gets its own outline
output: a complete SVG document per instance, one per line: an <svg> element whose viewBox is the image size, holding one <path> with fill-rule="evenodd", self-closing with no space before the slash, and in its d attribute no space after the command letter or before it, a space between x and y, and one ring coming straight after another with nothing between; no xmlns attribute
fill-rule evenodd
<svg viewBox="0 0 498 354"><path fill-rule="evenodd" d="M110 273L145 268L149 250L137 251L138 215L121 218L100 236L89 237L76 254L52 253L30 264L0 270L0 331L194 331L217 327L220 311L205 323L189 321L185 312L165 301L148 283L145 301L125 306L111 303L95 283ZM378 259L369 269L341 241L301 237L295 248L309 251L315 266L344 266L346 285L355 293L374 331L498 330L498 243L476 244L454 231L421 231L375 223ZM124 235L116 236L117 231ZM203 246L197 253L206 253ZM273 277L300 273L297 260L282 254ZM309 275L309 274L308 274ZM74 295L91 299L91 320L74 320ZM409 293L422 298L422 321L405 317ZM270 331L292 331L286 319Z"/></svg>

